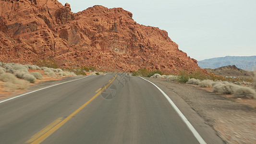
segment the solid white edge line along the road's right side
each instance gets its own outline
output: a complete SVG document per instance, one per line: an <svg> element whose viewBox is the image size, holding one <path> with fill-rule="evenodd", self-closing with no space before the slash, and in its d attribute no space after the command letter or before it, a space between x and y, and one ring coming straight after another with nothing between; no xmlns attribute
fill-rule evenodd
<svg viewBox="0 0 256 144"><path fill-rule="evenodd" d="M140 76L139 76L140 77ZM142 77L140 77L142 78ZM144 79L144 78L142 78ZM173 101L171 100L171 98L169 96L167 96L164 91L162 91L156 84L144 79L145 81L153 84L154 86L156 86L158 88L158 90L165 96L165 98L169 101L169 103L171 104L172 108L175 109L175 111L178 113L178 115L181 117L181 119L185 122L185 124L187 125L187 127L189 128L189 130L194 134L195 138L197 139L197 141L200 144L207 144L204 139L200 136L200 134L195 130L195 128L192 126L192 124L187 120L187 118L183 115L183 113L180 111L180 109L173 103Z"/></svg>

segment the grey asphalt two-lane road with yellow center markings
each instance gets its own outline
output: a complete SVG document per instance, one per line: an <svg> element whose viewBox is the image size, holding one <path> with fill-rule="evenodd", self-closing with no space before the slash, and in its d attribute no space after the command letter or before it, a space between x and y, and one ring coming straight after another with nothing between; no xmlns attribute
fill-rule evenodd
<svg viewBox="0 0 256 144"><path fill-rule="evenodd" d="M0 144L25 143L199 144L157 87L124 73L0 103Z"/></svg>

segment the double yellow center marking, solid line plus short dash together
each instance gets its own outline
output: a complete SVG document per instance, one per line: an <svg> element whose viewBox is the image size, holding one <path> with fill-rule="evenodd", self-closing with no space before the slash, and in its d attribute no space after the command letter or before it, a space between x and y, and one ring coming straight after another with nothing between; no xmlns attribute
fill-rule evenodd
<svg viewBox="0 0 256 144"><path fill-rule="evenodd" d="M117 75L117 74L116 74ZM83 106L76 109L71 115L69 115L66 119L63 120L63 118L58 118L57 120L54 120L51 124L49 124L47 127L42 129L41 131L37 132L35 135L33 135L26 143L31 144L40 144L43 142L46 138L48 138L53 132L57 131L62 125L64 125L68 120L70 120L74 115L76 115L80 110L85 108L91 101L93 101L101 92L103 92L116 78L113 78L112 81L110 81L109 84L107 84L104 88L102 88L96 95L94 95L90 100L88 100Z"/></svg>

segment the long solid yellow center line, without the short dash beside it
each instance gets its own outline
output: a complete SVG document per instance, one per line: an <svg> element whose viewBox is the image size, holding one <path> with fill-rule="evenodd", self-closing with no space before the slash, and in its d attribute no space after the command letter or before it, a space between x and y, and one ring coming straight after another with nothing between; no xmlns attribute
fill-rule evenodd
<svg viewBox="0 0 256 144"><path fill-rule="evenodd" d="M116 74L117 75L117 74ZM41 142L43 142L46 138L48 138L53 132L57 131L62 125L64 125L68 120L70 120L74 115L76 115L80 110L82 110L83 108L85 108L85 106L87 106L91 101L93 101L102 91L104 91L116 78L113 78L113 80L107 84L104 88L102 88L96 95L94 95L90 100L88 100L83 106L81 106L80 108L76 109L71 115L69 115L66 119L62 120L61 122L59 122L57 125L55 125L53 128L51 128L48 132L45 132L43 135L41 135L37 140L35 140L33 143L31 144L40 144Z"/></svg>

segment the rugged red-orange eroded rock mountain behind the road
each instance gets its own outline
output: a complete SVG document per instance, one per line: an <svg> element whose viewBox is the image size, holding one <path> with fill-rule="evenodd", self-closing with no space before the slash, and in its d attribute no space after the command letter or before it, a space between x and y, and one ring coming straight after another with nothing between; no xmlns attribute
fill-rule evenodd
<svg viewBox="0 0 256 144"><path fill-rule="evenodd" d="M115 72L200 70L166 31L137 24L122 8L96 5L73 13L57 0L0 0L0 5L1 61L52 58L61 67Z"/></svg>

